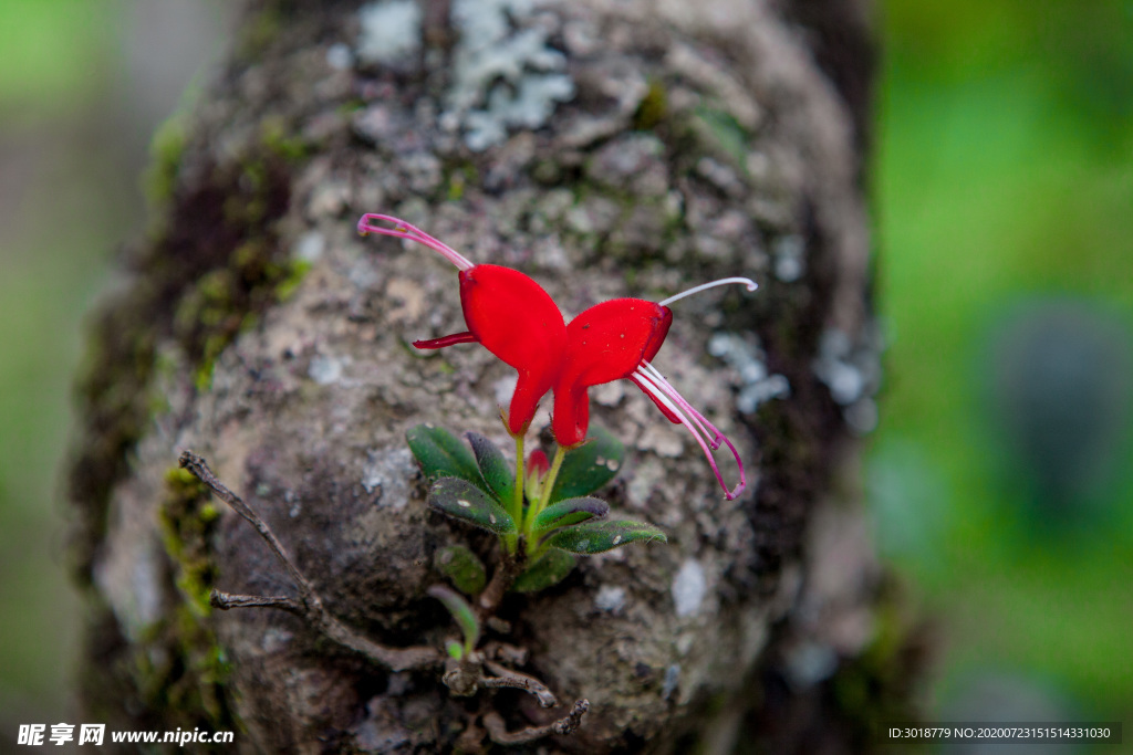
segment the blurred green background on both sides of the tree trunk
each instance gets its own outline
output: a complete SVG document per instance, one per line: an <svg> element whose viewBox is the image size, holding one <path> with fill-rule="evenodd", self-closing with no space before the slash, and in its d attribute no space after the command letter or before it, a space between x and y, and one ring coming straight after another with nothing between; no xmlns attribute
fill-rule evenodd
<svg viewBox="0 0 1133 755"><path fill-rule="evenodd" d="M0 738L71 710L82 318L221 6L0 2ZM878 546L934 617L929 718L1133 721L1133 1L877 10L891 345L866 479Z"/></svg>

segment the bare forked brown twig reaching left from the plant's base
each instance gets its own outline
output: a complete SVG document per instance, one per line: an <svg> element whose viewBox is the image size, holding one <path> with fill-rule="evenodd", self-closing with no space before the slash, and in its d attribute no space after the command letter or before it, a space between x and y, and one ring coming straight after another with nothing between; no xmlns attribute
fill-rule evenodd
<svg viewBox="0 0 1133 755"><path fill-rule="evenodd" d="M264 542L267 543L267 547L272 549L273 554L275 554L275 558L283 564L288 574L291 575L291 580L296 583L296 586L299 587L299 601L290 598L229 595L228 593L213 591L212 600L214 601L214 606L222 609L264 607L279 608L281 610L290 611L300 616L333 642L365 655L374 663L384 666L392 671L408 671L411 669L431 668L440 666L443 662L441 652L435 647L425 645L415 647L386 647L385 645L380 645L376 642L361 636L334 618L330 611L326 610L322 599L318 597L318 593L315 592L315 589L310 586L307 577L299 572L295 561L292 561L287 555L287 551L283 550L283 546L275 537L275 533L272 532L271 527L267 526L267 523L259 517L255 509L244 503L244 499L238 495L229 490L223 482L218 480L216 475L213 474L211 469L208 469L208 464L203 457L194 454L191 451L185 451L181 452L180 463L182 467L187 469L195 478L208 486L208 488L221 500L231 506L232 511L242 516L249 524L252 524L252 526L256 529L259 537L263 538Z"/></svg>

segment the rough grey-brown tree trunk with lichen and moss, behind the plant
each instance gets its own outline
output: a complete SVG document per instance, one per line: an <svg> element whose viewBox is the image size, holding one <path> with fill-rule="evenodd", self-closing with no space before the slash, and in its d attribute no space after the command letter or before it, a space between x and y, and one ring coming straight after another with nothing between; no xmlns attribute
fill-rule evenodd
<svg viewBox="0 0 1133 755"><path fill-rule="evenodd" d="M577 732L528 746L860 749L909 663L901 621L879 618L894 611L857 484L880 350L863 16L855 0L254 3L222 76L156 139L152 228L93 327L71 475L90 714L233 729L242 752L475 752L492 712L519 730L586 698ZM593 421L628 449L604 495L668 543L504 599L493 636L529 652L519 670L557 711L457 697L438 670L372 662L292 614L208 604L214 586L297 585L178 470L185 448L374 642L442 647L434 555L495 558L426 508L404 432L508 447L514 372L475 344L408 348L465 329L457 280L423 247L360 238L364 212L523 271L568 318L760 283L673 304L656 360L740 448L735 500L636 389L595 392Z"/></svg>

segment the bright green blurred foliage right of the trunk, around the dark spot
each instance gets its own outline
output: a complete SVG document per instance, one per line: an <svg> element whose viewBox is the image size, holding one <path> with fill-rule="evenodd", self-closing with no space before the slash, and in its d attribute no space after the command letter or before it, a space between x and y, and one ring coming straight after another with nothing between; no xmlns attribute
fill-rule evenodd
<svg viewBox="0 0 1133 755"><path fill-rule="evenodd" d="M942 704L965 677L1021 675L1128 719L1131 467L1096 494L1100 513L1055 520L1019 483L987 397L1007 351L991 334L1020 307L1100 312L1128 353L1133 2L883 10L874 195L891 349L868 473L880 546L943 623ZM1107 453L1128 458L1122 430Z"/></svg>

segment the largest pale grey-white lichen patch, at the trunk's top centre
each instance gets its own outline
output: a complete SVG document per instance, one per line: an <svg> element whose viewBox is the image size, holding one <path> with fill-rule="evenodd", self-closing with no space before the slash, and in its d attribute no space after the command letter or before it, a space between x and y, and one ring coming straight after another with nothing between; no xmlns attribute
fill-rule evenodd
<svg viewBox="0 0 1133 755"><path fill-rule="evenodd" d="M544 26L525 26L530 0L454 0L460 33L453 81L441 123L463 128L465 144L480 152L502 144L512 128L535 129L560 102L574 96L566 58L547 44Z"/></svg>

